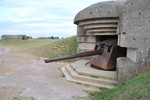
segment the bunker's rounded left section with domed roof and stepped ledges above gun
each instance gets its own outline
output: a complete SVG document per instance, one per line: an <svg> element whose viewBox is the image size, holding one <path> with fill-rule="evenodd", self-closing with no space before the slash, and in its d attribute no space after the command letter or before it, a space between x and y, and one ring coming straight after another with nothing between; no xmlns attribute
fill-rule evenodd
<svg viewBox="0 0 150 100"><path fill-rule="evenodd" d="M124 3L100 2L83 9L76 15L74 23L78 25L78 53L93 50L99 41L115 39L118 42L119 16ZM126 49L122 53L126 53Z"/></svg>

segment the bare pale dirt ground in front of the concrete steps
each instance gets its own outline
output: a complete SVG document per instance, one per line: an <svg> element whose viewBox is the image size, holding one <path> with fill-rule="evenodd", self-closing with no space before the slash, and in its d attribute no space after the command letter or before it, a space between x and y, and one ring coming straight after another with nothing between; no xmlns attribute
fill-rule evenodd
<svg viewBox="0 0 150 100"><path fill-rule="evenodd" d="M0 46L0 100L84 100L97 90L61 77L64 65Z"/></svg>

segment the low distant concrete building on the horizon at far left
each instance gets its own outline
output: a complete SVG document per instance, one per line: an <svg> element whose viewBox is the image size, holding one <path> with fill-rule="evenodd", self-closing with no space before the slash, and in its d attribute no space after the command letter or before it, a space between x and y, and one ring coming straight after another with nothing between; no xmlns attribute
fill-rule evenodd
<svg viewBox="0 0 150 100"><path fill-rule="evenodd" d="M2 40L9 40L9 39L20 39L20 40L27 40L26 35L2 35Z"/></svg>

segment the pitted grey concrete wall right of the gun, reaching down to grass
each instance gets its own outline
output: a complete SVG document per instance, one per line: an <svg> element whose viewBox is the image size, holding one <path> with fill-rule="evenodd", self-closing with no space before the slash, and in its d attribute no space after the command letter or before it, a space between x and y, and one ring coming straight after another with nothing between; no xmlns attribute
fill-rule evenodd
<svg viewBox="0 0 150 100"><path fill-rule="evenodd" d="M127 57L118 59L122 83L150 68L150 0L127 0L120 19L119 45L127 48Z"/></svg>

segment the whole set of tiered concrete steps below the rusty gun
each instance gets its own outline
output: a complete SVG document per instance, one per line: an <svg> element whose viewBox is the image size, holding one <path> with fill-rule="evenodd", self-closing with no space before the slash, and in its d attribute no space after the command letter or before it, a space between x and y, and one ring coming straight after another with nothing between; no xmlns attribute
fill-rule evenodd
<svg viewBox="0 0 150 100"><path fill-rule="evenodd" d="M94 69L89 60L79 60L61 68L67 80L96 87L115 88L118 85L117 72Z"/></svg>

